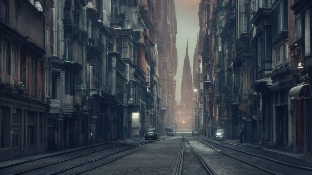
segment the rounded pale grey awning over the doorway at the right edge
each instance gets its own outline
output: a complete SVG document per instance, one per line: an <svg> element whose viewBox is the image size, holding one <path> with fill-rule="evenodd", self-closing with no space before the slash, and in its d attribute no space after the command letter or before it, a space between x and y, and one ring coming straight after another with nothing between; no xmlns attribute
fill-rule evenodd
<svg viewBox="0 0 312 175"><path fill-rule="evenodd" d="M290 100L308 100L311 98L309 84L293 87L289 91Z"/></svg>

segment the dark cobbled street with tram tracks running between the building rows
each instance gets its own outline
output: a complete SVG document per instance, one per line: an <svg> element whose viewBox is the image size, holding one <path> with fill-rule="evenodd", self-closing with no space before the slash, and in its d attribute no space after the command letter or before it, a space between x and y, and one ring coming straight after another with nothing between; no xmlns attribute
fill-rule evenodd
<svg viewBox="0 0 312 175"><path fill-rule="evenodd" d="M13 159L1 163L0 174L308 175L312 172L311 156L287 155L202 136L185 137L190 132L183 135L161 136L158 140L129 139L48 156Z"/></svg>

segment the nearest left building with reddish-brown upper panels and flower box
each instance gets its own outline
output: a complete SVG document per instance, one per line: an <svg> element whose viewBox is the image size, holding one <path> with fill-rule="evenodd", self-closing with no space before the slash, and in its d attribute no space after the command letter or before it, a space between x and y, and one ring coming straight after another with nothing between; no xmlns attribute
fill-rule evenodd
<svg viewBox="0 0 312 175"><path fill-rule="evenodd" d="M47 151L46 23L50 1L0 2L0 160Z"/></svg>

